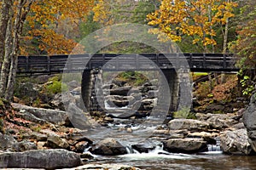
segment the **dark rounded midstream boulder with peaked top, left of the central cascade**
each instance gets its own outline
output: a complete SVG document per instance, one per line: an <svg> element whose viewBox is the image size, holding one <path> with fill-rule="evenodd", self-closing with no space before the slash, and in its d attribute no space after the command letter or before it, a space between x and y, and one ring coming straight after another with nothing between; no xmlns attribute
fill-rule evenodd
<svg viewBox="0 0 256 170"><path fill-rule="evenodd" d="M90 149L90 152L96 155L115 156L127 154L125 146L115 139L103 139Z"/></svg>

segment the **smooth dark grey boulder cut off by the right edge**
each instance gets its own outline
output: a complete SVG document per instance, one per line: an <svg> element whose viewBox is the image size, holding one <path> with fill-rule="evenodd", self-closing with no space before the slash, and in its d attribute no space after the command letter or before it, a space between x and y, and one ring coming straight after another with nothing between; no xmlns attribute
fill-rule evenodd
<svg viewBox="0 0 256 170"><path fill-rule="evenodd" d="M249 143L256 152L256 93L251 96L250 103L243 112L243 123L247 127Z"/></svg>

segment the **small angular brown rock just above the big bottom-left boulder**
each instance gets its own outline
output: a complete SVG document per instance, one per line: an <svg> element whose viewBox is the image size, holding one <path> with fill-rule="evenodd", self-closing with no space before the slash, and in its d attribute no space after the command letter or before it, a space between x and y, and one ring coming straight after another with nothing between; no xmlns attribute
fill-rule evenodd
<svg viewBox="0 0 256 170"><path fill-rule="evenodd" d="M69 144L66 139L61 139L59 136L50 135L46 145L52 149L68 149Z"/></svg>

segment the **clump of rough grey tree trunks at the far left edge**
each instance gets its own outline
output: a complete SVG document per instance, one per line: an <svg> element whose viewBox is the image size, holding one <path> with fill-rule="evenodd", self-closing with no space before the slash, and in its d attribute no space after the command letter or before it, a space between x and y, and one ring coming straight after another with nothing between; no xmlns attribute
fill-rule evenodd
<svg viewBox="0 0 256 170"><path fill-rule="evenodd" d="M0 8L0 97L11 100L14 92L20 35L34 0L4 0Z"/></svg>

